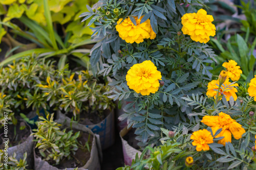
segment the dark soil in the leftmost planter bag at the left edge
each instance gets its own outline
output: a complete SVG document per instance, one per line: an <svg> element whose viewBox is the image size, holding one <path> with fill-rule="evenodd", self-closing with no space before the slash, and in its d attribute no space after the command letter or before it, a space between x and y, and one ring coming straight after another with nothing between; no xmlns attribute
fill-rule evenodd
<svg viewBox="0 0 256 170"><path fill-rule="evenodd" d="M26 127L23 130L20 130L20 127ZM2 132L0 134L0 149L3 150L5 148L5 143L3 143L5 137L4 127L0 130ZM9 147L13 147L18 145L29 137L30 135L30 128L24 122L18 121L17 125L10 125L8 124L8 133L7 136L9 138Z"/></svg>

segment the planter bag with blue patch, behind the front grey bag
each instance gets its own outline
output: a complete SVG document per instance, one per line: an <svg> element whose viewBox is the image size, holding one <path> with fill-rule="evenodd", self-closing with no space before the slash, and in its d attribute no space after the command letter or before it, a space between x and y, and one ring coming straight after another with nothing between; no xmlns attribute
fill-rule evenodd
<svg viewBox="0 0 256 170"><path fill-rule="evenodd" d="M57 119L67 119L70 122L70 118L65 114L62 114L60 111L57 111ZM99 134L100 136L100 143L102 150L111 147L115 143L115 114L114 109L110 112L104 120L102 120L98 124L94 125L82 125L86 126L87 128L91 129L93 133Z"/></svg>

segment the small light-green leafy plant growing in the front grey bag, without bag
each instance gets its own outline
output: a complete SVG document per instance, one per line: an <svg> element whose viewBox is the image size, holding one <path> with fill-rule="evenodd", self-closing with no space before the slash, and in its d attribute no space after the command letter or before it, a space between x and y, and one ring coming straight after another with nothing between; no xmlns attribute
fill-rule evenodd
<svg viewBox="0 0 256 170"><path fill-rule="evenodd" d="M35 148L38 148L40 155L47 161L59 164L63 158L71 159L71 154L75 155L80 132L74 134L72 130L60 130L61 125L53 121L53 115L48 114L46 118L40 116L40 121L36 122L38 128L33 129L31 135L35 137Z"/></svg>

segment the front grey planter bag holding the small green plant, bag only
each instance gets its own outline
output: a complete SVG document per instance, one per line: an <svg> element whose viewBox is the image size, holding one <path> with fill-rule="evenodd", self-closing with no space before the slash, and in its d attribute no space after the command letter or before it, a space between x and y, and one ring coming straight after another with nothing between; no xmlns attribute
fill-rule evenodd
<svg viewBox="0 0 256 170"><path fill-rule="evenodd" d="M62 117L62 115L59 115L58 119L55 120L55 122L66 127L70 126L70 120L66 119L65 117ZM100 170L100 161L102 159L102 152L100 147L99 135L94 134L89 128L83 125L75 124L75 123L72 123L72 129L88 132L91 135L93 135L91 157L87 161L87 163L84 166L79 167L78 170L87 170L87 169ZM34 150L34 164L35 164L34 170L58 170L57 167L50 165L47 161L44 161L41 159L41 157L37 156L35 154L35 150ZM67 170L73 170L73 169L74 168L67 168Z"/></svg>

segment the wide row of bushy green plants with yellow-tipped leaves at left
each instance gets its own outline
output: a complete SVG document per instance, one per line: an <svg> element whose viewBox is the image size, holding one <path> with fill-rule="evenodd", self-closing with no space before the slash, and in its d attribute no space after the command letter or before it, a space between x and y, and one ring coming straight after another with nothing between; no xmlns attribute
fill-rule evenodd
<svg viewBox="0 0 256 170"><path fill-rule="evenodd" d="M97 83L89 71L67 70L68 65L58 70L54 62L33 56L2 67L1 113L24 112L26 109L39 113L43 108L45 112L60 109L74 115L80 112L100 115L103 110L114 107L111 100L103 95L109 91L108 85Z"/></svg>

